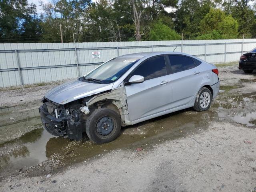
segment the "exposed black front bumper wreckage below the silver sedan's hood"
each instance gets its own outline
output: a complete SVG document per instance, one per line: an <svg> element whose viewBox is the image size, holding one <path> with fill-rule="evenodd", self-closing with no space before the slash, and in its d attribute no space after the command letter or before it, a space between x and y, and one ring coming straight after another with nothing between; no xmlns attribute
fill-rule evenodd
<svg viewBox="0 0 256 192"><path fill-rule="evenodd" d="M39 108L44 128L54 136L68 136L72 140L81 140L85 132L86 120L79 111L78 101L61 105L43 98Z"/></svg>

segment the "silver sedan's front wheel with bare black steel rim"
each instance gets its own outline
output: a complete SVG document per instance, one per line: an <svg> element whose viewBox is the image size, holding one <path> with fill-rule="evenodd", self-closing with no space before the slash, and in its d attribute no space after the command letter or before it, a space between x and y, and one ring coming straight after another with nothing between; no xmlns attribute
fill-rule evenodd
<svg viewBox="0 0 256 192"><path fill-rule="evenodd" d="M86 121L86 134L97 144L115 140L121 130L121 117L108 108L96 109Z"/></svg>

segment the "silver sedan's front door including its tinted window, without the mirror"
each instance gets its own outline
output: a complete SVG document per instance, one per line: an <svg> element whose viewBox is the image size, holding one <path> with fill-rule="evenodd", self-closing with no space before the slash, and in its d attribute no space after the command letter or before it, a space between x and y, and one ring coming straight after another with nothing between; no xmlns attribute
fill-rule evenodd
<svg viewBox="0 0 256 192"><path fill-rule="evenodd" d="M144 82L126 85L130 121L168 110L171 105L171 80L165 56L145 60L129 76L144 76Z"/></svg>

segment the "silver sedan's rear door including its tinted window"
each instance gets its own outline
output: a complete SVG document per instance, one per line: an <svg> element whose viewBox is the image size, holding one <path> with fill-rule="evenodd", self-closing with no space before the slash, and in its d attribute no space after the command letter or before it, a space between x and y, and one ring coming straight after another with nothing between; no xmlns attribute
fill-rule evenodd
<svg viewBox="0 0 256 192"><path fill-rule="evenodd" d="M178 54L168 55L172 70L172 108L188 104L197 94L203 80L200 63Z"/></svg>

